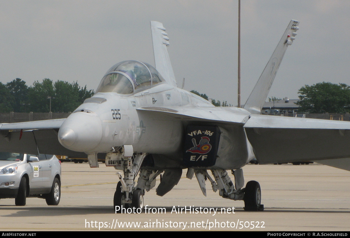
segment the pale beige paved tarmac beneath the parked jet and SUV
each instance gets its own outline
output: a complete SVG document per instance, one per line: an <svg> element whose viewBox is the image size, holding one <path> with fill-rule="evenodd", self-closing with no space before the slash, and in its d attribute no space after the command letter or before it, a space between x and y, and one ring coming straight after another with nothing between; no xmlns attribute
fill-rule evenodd
<svg viewBox="0 0 350 238"><path fill-rule="evenodd" d="M221 198L210 190L209 181L204 197L196 178L185 178L184 170L179 184L165 196L156 196L155 189L146 193L145 205L151 208L147 212L116 214L117 171L104 164L91 169L87 163L66 162L62 163L59 205L47 206L44 199L27 198L26 206L14 206L14 199L1 199L0 229L350 231L349 171L320 164L248 164L243 170L246 182L260 183L265 211L245 212L243 201ZM185 214L185 206L194 208L194 213ZM182 213L174 211L178 208ZM228 209L226 213L222 208ZM127 227L129 223L132 228Z"/></svg>

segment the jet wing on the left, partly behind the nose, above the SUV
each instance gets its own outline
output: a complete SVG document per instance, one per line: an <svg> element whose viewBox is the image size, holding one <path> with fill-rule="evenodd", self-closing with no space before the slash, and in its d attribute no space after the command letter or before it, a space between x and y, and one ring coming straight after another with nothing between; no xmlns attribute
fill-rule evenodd
<svg viewBox="0 0 350 238"><path fill-rule="evenodd" d="M58 142L58 130L64 120L0 124L0 151L86 158L85 153L68 150Z"/></svg>

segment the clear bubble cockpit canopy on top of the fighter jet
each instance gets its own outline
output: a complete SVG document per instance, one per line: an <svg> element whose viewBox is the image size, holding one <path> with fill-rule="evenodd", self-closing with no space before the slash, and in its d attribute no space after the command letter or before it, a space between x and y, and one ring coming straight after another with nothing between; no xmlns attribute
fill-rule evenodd
<svg viewBox="0 0 350 238"><path fill-rule="evenodd" d="M165 82L158 71L148 63L136 60L123 61L110 68L101 80L96 93L132 94Z"/></svg>

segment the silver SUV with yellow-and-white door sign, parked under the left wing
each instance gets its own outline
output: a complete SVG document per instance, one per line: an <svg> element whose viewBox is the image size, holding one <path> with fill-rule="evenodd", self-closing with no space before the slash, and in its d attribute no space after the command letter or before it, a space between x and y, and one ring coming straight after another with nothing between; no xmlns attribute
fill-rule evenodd
<svg viewBox="0 0 350 238"><path fill-rule="evenodd" d="M15 198L17 206L24 206L27 197L58 205L61 162L54 155L0 152L0 198Z"/></svg>

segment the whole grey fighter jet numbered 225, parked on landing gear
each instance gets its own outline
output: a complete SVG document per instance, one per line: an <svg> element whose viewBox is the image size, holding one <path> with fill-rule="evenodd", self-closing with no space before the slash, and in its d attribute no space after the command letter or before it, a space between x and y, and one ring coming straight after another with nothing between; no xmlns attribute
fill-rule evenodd
<svg viewBox="0 0 350 238"><path fill-rule="evenodd" d="M142 209L158 176L156 193L163 196L187 169L204 195L209 179L220 196L262 210L259 183L243 188L242 168L252 158L259 164L326 159L339 165L350 157L349 122L260 115L298 29L299 21L290 21L244 108L214 107L177 87L169 36L162 23L151 21L155 67L135 60L115 64L96 94L66 119L0 124L0 151L87 157L91 167L105 158L121 171L113 201L119 208Z"/></svg>

